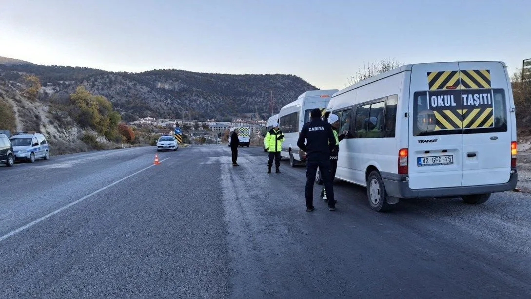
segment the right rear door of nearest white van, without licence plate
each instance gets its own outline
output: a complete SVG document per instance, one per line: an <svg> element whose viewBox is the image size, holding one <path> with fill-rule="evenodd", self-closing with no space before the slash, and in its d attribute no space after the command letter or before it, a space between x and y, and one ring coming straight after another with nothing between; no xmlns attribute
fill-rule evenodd
<svg viewBox="0 0 531 299"><path fill-rule="evenodd" d="M511 171L509 83L500 63L459 63L462 186L505 183Z"/></svg>

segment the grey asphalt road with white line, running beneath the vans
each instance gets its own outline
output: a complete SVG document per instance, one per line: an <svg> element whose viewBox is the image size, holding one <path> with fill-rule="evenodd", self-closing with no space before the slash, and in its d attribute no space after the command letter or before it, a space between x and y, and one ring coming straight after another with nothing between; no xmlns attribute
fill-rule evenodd
<svg viewBox="0 0 531 299"><path fill-rule="evenodd" d="M375 213L261 148L153 147L0 166L0 298L529 298L531 198Z"/></svg>

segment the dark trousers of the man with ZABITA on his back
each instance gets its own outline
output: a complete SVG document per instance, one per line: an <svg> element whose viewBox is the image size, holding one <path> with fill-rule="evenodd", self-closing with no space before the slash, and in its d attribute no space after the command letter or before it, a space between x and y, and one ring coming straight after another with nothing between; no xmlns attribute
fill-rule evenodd
<svg viewBox="0 0 531 299"><path fill-rule="evenodd" d="M333 186L330 179L330 155L317 154L306 157L306 189L304 197L306 198L306 207L313 207L313 184L315 183L315 173L317 168L321 170L321 176L324 182L324 188L327 189L328 206L335 207L336 201L333 198Z"/></svg>

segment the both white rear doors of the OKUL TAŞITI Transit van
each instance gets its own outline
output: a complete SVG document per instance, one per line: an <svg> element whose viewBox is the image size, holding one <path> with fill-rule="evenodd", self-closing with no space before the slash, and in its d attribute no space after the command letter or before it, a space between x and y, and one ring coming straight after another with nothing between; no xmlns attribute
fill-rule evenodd
<svg viewBox="0 0 531 299"><path fill-rule="evenodd" d="M508 81L500 63L412 67L409 187L504 183L510 177Z"/></svg>

